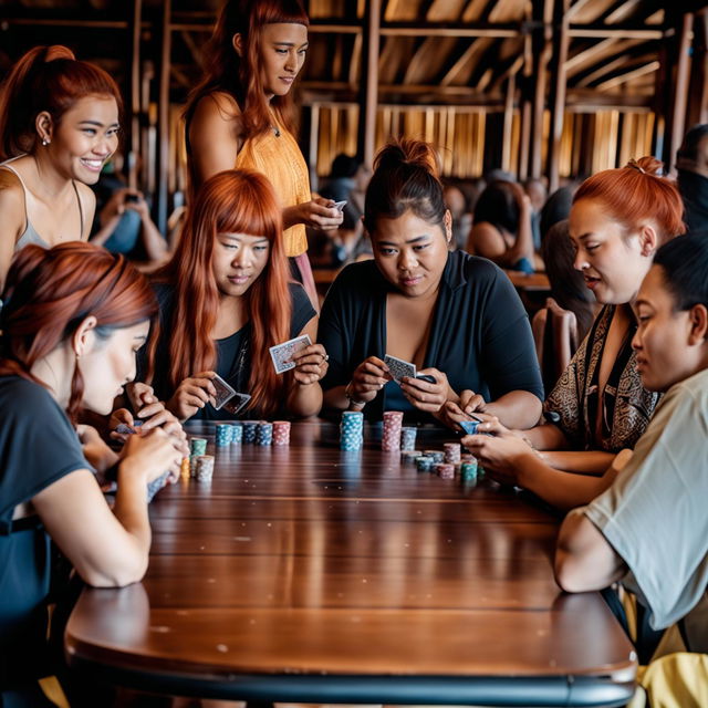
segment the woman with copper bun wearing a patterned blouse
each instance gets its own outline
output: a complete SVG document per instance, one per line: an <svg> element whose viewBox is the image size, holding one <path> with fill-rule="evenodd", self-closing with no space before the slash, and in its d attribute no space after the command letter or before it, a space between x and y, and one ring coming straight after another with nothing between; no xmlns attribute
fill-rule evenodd
<svg viewBox="0 0 708 708"><path fill-rule="evenodd" d="M545 400L546 423L514 435L492 420L482 430L496 437L466 439L486 469L560 508L587 503L604 490L606 480L593 475L634 448L658 404L659 394L644 388L637 369L632 306L656 250L685 231L678 189L660 167L653 157L631 160L590 177L575 192L569 221L574 266L604 306Z"/></svg>

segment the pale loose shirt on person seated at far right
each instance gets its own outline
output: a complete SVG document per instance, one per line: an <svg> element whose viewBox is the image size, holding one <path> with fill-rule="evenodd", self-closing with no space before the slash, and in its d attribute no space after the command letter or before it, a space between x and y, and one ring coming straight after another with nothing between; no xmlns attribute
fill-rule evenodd
<svg viewBox="0 0 708 708"><path fill-rule="evenodd" d="M615 482L582 510L631 573L654 628L686 616L708 585L708 371L671 386ZM708 622L700 634L706 644Z"/></svg>

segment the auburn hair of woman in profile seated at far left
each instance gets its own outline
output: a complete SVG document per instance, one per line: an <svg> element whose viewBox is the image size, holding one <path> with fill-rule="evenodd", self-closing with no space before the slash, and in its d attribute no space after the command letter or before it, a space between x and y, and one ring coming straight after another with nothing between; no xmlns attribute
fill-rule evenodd
<svg viewBox="0 0 708 708"><path fill-rule="evenodd" d="M96 335L129 327L157 314L147 279L123 256L71 241L51 249L25 246L8 273L0 311L0 376L18 375L39 384L32 366L69 340L88 316ZM66 414L75 423L84 382L74 368Z"/></svg>

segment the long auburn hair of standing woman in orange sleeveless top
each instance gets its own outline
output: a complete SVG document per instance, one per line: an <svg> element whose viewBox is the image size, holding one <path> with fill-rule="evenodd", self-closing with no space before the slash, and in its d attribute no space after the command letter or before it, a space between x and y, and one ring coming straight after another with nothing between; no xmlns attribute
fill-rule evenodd
<svg viewBox="0 0 708 708"><path fill-rule="evenodd" d="M300 0L227 0L207 45L205 76L187 101L187 128L199 101L223 91L239 104L243 134L252 137L270 129L273 110L284 127L292 131L292 96L274 96L268 102L261 73L261 39L267 24L277 22L310 25ZM242 39L243 55L233 49L233 35Z"/></svg>

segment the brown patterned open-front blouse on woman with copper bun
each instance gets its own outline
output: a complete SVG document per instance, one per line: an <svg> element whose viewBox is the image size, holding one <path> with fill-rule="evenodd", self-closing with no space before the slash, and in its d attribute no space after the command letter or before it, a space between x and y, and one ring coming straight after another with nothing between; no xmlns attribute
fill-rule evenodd
<svg viewBox="0 0 708 708"><path fill-rule="evenodd" d="M615 305L602 309L543 405L546 420L556 425L575 449L618 452L623 448L634 448L659 402L660 394L642 386L636 353L632 348L636 331L636 324L633 324L607 377L597 430L597 406L601 404L597 377L614 312Z"/></svg>

